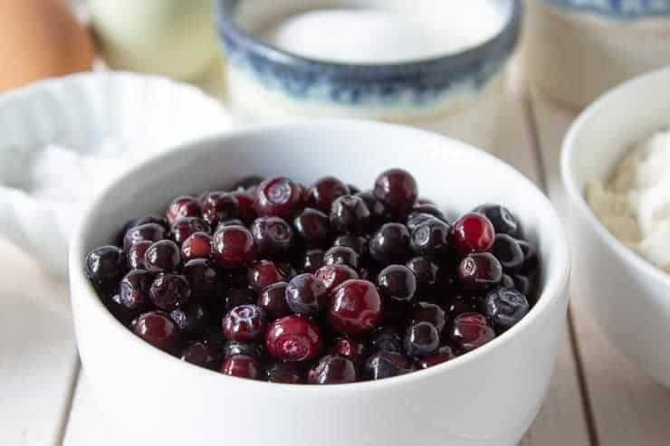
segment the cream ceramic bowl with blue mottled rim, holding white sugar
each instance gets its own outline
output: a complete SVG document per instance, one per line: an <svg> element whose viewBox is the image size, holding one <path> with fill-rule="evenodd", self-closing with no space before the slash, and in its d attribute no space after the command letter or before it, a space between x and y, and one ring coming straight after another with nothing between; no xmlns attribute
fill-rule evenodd
<svg viewBox="0 0 670 446"><path fill-rule="evenodd" d="M432 2L430 7L435 5L435 14L445 16L459 7L425 1ZM482 123L495 127L503 69L520 33L522 1L476 0L467 7L477 4L498 14L498 23L480 43L432 59L357 64L282 51L257 37L262 32L260 24L319 8L413 6L400 1L217 0L216 21L227 57L228 99L244 116L382 119L487 146L493 133L485 131Z"/></svg>

